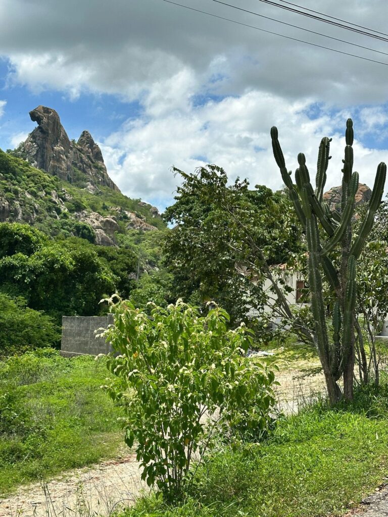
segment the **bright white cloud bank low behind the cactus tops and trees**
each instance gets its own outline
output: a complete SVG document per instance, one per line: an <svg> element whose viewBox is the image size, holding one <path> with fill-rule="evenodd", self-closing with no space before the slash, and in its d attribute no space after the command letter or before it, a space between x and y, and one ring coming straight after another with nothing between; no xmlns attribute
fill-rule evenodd
<svg viewBox="0 0 388 517"><path fill-rule="evenodd" d="M108 170L128 195L157 199L159 207L164 208L171 203L178 180L170 167L193 172L204 163L222 166L230 180L248 177L251 185L278 189L282 181L272 155L273 125L278 126L288 168L295 170L296 156L303 151L313 180L320 140L333 136L327 188L340 185L347 113L329 116L323 109L323 114L311 119L308 113L314 104L312 99L290 102L258 90L196 106L191 89L182 91L186 101L178 95L176 104L171 104L167 95L168 109L164 109L158 84L150 95L152 100L145 99L143 118L129 121L105 140L102 148ZM159 99L156 111L155 98ZM340 133L338 124L344 127ZM362 126L355 125L356 136L359 129ZM355 140L354 154L360 180L371 185L377 164L388 159L388 150L368 149Z"/></svg>

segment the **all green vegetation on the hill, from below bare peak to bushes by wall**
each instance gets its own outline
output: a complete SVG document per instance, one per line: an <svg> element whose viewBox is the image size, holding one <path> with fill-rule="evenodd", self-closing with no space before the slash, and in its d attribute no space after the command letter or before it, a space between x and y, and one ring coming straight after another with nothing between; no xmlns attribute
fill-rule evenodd
<svg viewBox="0 0 388 517"><path fill-rule="evenodd" d="M171 299L171 277L159 270L166 223L140 200L108 187L87 190L86 179L78 171L69 184L0 150L2 218L11 221L0 222L0 324L13 329L2 333L0 356L57 344L63 315L106 314L99 302L113 293L130 298L136 291L139 302ZM96 246L93 227L76 211L114 216L117 246ZM128 229L127 212L159 231Z"/></svg>

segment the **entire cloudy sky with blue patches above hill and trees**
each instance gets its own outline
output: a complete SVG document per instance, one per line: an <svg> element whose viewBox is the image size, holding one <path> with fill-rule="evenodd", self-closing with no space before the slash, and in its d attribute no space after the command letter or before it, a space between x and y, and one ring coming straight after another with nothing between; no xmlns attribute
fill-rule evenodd
<svg viewBox="0 0 388 517"><path fill-rule="evenodd" d="M304 151L314 171L320 139L332 136L327 185L338 185L351 116L355 169L371 185L388 161L386 4L292 2L369 36L262 0L176 0L216 17L163 0L0 0L0 147L24 140L35 127L28 112L47 105L70 138L92 133L124 193L163 209L176 187L172 165L216 163L231 179L281 187L273 125L293 170Z"/></svg>

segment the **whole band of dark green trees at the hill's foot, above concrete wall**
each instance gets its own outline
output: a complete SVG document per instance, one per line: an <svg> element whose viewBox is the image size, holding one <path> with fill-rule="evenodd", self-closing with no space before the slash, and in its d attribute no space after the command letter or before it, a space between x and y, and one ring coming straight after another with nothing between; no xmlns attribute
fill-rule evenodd
<svg viewBox="0 0 388 517"><path fill-rule="evenodd" d="M64 314L98 314L103 310L101 298L116 291L129 295L136 258L128 250L107 251L76 238L53 241L28 225L14 223L0 223L1 235L7 239L1 246L0 290L24 297L28 307L45 311L58 323ZM24 253L14 245L21 235L27 242L19 245ZM35 247L29 246L34 239Z"/></svg>

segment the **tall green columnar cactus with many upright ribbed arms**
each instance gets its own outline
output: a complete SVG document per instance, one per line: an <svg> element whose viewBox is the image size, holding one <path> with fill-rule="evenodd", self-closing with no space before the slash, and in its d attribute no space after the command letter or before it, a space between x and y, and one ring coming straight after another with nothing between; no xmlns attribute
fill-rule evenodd
<svg viewBox="0 0 388 517"><path fill-rule="evenodd" d="M326 171L330 160L331 139L322 139L317 161L316 189L310 183L310 175L303 153L297 157L299 168L295 171L296 188L287 171L285 159L278 141L278 130L271 129L272 148L281 177L289 191L295 212L306 234L308 259L308 281L310 288L310 305L315 321L314 341L322 363L329 399L335 403L342 396L337 384L344 376L344 396L351 399L353 395L354 369L354 324L356 303L356 261L359 258L365 240L374 223L384 190L386 165L380 163L377 169L368 212L361 225L360 233L352 244L352 218L354 213L354 196L359 186L359 174L353 172L353 122L346 123L345 158L342 160L342 198L341 214L331 212L323 202L323 190ZM321 244L319 223L322 227ZM341 265L338 270L333 265L330 253L340 246ZM333 342L329 342L329 333L325 317L322 294L322 273L329 283L336 301L333 309Z"/></svg>

